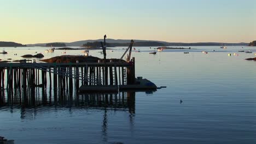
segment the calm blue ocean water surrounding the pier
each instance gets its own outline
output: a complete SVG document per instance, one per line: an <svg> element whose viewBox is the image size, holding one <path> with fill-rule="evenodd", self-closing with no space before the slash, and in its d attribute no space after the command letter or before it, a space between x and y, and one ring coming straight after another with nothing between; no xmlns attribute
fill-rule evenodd
<svg viewBox="0 0 256 144"><path fill-rule="evenodd" d="M107 57L120 58L123 48L108 50ZM136 76L167 88L117 95L38 88L31 92L36 99L26 105L11 100L21 92L8 98L2 90L0 136L24 144L256 143L256 62L245 60L256 57L255 47L198 46L149 55L154 48L136 47L141 52L132 53ZM1 54L2 60L35 52L50 58L62 52L44 53L46 47L3 49L8 54ZM92 50L90 55L103 57L99 52ZM238 56L228 56L234 52ZM66 55L82 54L66 51Z"/></svg>

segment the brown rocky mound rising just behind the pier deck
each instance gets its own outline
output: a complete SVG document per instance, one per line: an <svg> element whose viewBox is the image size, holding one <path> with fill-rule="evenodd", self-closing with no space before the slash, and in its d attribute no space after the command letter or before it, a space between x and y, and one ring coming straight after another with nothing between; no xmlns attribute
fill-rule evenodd
<svg viewBox="0 0 256 144"><path fill-rule="evenodd" d="M52 57L49 59L43 59L41 61L47 62L47 63L76 63L77 61L79 63L97 63L98 60L103 61L103 59L98 58L98 57L92 57L92 56L72 56L72 55L65 55L65 56L57 56L57 57ZM119 59L106 59L107 62L110 62L112 60L113 62L118 62Z"/></svg>

